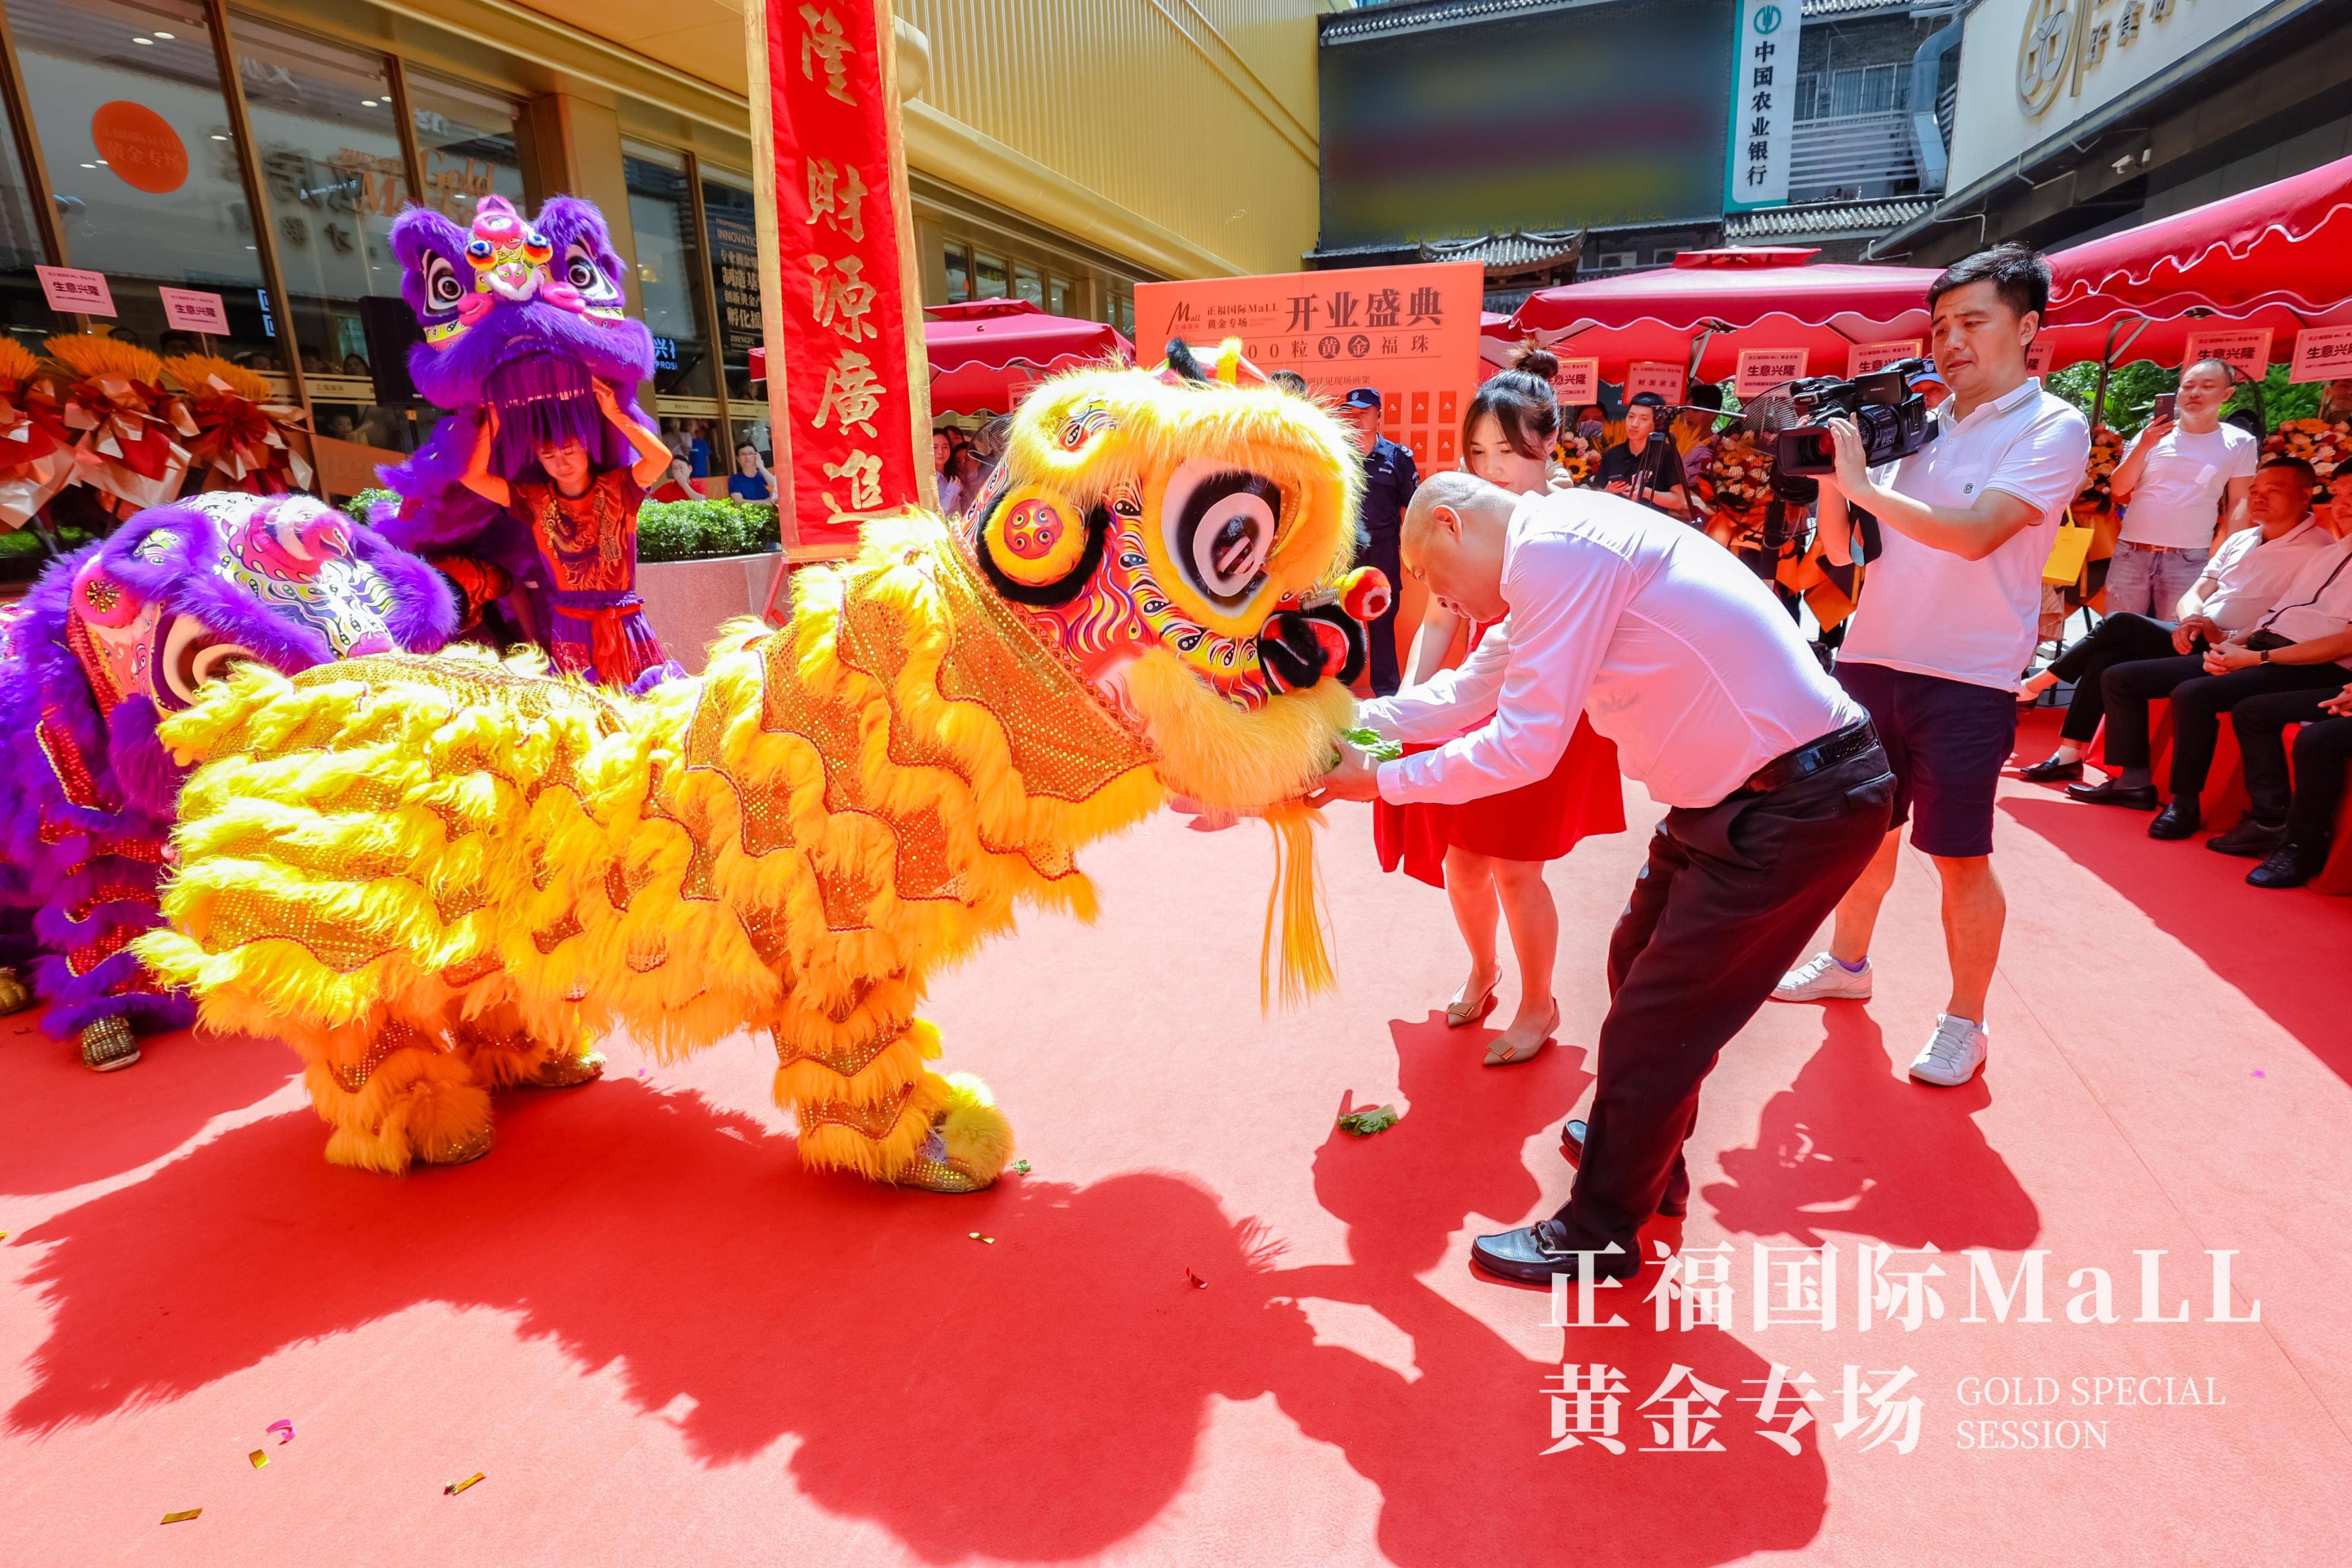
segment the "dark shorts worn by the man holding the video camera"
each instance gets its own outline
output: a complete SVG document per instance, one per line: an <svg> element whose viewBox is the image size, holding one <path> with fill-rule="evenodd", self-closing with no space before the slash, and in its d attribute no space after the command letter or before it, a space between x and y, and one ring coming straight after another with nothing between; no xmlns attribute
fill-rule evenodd
<svg viewBox="0 0 2352 1568"><path fill-rule="evenodd" d="M1870 710L1896 771L1891 825L1917 811L1917 849L1947 860L1990 856L1992 792L2018 750L2018 693L1886 665L1839 663L1835 675Z"/></svg>

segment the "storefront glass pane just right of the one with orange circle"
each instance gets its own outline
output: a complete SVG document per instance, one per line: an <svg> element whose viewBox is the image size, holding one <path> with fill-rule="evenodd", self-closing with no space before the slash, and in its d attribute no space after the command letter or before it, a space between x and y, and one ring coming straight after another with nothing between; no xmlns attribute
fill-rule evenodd
<svg viewBox="0 0 2352 1568"><path fill-rule="evenodd" d="M376 402L362 317L367 299L407 310L390 233L409 176L383 56L249 16L230 19L230 38L318 428L407 451L407 414Z"/></svg>

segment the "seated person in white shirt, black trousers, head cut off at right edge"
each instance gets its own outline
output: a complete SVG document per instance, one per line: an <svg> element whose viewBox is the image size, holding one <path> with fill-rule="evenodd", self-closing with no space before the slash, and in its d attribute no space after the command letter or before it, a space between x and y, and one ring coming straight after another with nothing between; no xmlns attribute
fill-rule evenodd
<svg viewBox="0 0 2352 1568"><path fill-rule="evenodd" d="M2352 682L2352 536L2303 557L2277 604L2244 632L2230 632L2204 656L2143 658L2100 677L2107 703L2107 764L2100 785L2067 785L2074 799L2107 806L2157 804L2150 773L2147 703L2171 698L2173 799L2147 825L2152 839L2185 839L2201 825L2197 797L2213 766L2220 715L2258 696L2336 691Z"/></svg>

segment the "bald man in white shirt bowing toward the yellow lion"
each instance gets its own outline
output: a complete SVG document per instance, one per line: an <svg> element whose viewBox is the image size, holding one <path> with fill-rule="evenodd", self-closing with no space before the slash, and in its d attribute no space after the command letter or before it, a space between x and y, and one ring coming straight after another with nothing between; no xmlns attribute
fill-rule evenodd
<svg viewBox="0 0 2352 1568"><path fill-rule="evenodd" d="M1668 806L1609 938L1569 1204L1472 1246L1512 1284L1628 1279L1649 1215L1682 1213L1700 1081L1877 851L1893 773L1788 611L1672 517L1442 473L1414 496L1402 559L1446 609L1501 625L1463 668L1357 710L1388 738L1444 745L1378 766L1348 748L1315 799L1501 795L1545 778L1583 712Z"/></svg>

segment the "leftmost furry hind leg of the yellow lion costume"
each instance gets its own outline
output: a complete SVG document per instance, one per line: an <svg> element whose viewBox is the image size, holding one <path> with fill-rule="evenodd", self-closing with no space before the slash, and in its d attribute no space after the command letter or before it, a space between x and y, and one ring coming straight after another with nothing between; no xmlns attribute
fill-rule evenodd
<svg viewBox="0 0 2352 1568"><path fill-rule="evenodd" d="M400 1175L489 1152L489 1091L466 1051L397 1018L334 1030L282 1027L303 1060L310 1105L334 1128L327 1159Z"/></svg>

